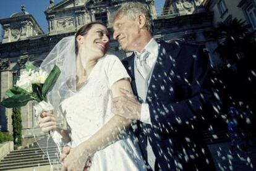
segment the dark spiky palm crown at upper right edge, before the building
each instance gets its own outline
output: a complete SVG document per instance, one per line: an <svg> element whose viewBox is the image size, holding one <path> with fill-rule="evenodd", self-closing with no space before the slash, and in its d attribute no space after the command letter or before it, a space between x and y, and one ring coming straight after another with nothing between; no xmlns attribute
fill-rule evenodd
<svg viewBox="0 0 256 171"><path fill-rule="evenodd" d="M250 25L246 21L229 20L229 22L218 23L216 36L218 47L215 52L220 54L226 64L238 64L240 60L250 59L255 62L256 48L254 33L250 32Z"/></svg>

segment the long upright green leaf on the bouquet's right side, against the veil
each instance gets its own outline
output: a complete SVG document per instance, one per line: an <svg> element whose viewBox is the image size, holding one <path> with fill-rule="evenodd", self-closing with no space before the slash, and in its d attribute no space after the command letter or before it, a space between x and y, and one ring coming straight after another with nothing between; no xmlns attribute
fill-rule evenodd
<svg viewBox="0 0 256 171"><path fill-rule="evenodd" d="M53 89L53 86L58 80L60 73L61 70L59 70L59 67L57 65L54 65L53 70L51 70L51 73L49 73L49 76L46 78L45 84L43 85L43 98L45 98L46 94Z"/></svg>

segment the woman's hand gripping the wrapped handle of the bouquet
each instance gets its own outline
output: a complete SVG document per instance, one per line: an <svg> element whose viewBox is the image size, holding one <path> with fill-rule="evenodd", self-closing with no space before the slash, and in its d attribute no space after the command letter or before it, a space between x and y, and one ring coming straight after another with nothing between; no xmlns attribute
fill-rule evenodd
<svg viewBox="0 0 256 171"><path fill-rule="evenodd" d="M56 119L53 111L44 111L38 117L38 125L44 133L56 129Z"/></svg>

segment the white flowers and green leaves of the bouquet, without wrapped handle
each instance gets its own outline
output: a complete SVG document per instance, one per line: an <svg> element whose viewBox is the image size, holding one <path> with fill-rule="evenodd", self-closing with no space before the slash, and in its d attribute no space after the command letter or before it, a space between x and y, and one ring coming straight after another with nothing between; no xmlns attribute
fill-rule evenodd
<svg viewBox="0 0 256 171"><path fill-rule="evenodd" d="M54 65L48 74L31 62L26 62L25 67L16 85L6 91L7 98L0 102L2 106L12 108L25 106L28 101L47 102L46 95L53 89L61 70Z"/></svg>

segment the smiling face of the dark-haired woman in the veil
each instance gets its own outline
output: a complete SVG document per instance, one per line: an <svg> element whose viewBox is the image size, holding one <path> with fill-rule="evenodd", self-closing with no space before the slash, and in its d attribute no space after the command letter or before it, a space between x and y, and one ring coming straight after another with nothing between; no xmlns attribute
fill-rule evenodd
<svg viewBox="0 0 256 171"><path fill-rule="evenodd" d="M105 26L95 23L85 35L77 36L79 51L93 59L103 57L109 48L109 34Z"/></svg>

